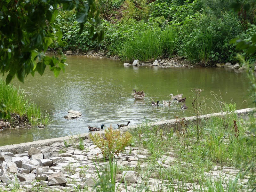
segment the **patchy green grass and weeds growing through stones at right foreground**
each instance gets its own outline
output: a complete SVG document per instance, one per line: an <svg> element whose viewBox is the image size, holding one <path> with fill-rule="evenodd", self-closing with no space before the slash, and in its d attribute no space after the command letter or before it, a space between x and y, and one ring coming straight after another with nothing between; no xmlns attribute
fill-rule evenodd
<svg viewBox="0 0 256 192"><path fill-rule="evenodd" d="M249 143L245 136L248 127L245 127L242 118L235 114L229 115L231 116L236 118L236 123L233 122L233 118L228 118L226 121L230 122L226 127L222 116L201 121L199 140L197 140L196 122L181 125L179 129L174 129L174 132L170 127L147 125L132 129L130 132L135 145L147 149L148 167L151 167L155 174L158 172L157 176L161 179L170 182L181 181L181 185L182 182L199 182L202 190L198 191L217 187L223 189L220 191L239 191L238 188L241 186L237 183L237 179L231 182L220 178L218 183L211 185L209 178L205 176L205 173L215 166L232 166L238 170L246 168L244 164L237 164L238 155L240 162L250 162L254 159L255 142ZM161 168L161 163L166 164L164 160L166 156L173 156L175 160L171 162L169 168ZM243 173L238 171L238 174L240 174L239 180L243 180ZM226 187L227 182L229 184ZM169 187L172 189L172 182ZM213 191L216 191L215 189Z"/></svg>

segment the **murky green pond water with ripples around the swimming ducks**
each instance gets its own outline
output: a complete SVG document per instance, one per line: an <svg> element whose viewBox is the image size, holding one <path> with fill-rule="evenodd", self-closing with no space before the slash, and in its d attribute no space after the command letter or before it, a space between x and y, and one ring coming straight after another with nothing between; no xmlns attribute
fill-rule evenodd
<svg viewBox="0 0 256 192"><path fill-rule="evenodd" d="M88 132L88 125L117 128L117 124L127 121L136 125L174 116L193 116L194 88L204 90L201 99L205 98L204 110L209 113L217 111L218 100L235 102L237 109L251 105L245 71L124 67L119 61L73 55L68 56L67 63L65 73L60 73L58 78L45 70L43 76L28 76L24 84L14 81L15 86L25 90L27 98L52 114L54 122L43 129L1 131L0 146L84 133ZM145 99L134 100L132 89L144 90ZM163 106L163 100L171 99L170 93L183 93L188 109L181 110L181 103L175 102ZM160 106L151 106L152 100L159 100ZM68 110L81 111L82 117L65 119Z"/></svg>

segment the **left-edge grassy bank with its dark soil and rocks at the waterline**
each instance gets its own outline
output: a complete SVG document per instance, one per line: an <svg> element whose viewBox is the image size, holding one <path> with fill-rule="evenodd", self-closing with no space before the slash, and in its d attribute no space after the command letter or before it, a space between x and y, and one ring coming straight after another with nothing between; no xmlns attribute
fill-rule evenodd
<svg viewBox="0 0 256 192"><path fill-rule="evenodd" d="M40 124L51 124L50 114L43 113L40 107L25 99L24 90L16 89L13 84L6 85L0 78L0 99L6 105L10 116L6 120L11 124L11 129L30 128Z"/></svg>

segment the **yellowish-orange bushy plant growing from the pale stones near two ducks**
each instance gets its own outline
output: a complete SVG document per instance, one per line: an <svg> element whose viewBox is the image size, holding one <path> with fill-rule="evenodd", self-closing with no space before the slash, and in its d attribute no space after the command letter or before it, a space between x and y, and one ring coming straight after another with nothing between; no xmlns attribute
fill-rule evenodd
<svg viewBox="0 0 256 192"><path fill-rule="evenodd" d="M111 126L105 129L105 138L100 133L90 133L93 143L100 148L103 156L108 158L118 155L132 142L132 135L125 132L121 135L120 131L114 130Z"/></svg>

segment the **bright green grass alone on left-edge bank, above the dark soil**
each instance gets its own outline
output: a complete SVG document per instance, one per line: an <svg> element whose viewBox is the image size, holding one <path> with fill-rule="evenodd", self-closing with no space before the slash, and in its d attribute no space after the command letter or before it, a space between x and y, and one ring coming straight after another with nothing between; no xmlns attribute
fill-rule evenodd
<svg viewBox="0 0 256 192"><path fill-rule="evenodd" d="M6 85L2 79L0 79L0 100L4 102L10 113L20 117L27 115L32 126L39 123L48 125L52 122L49 114L43 114L39 106L25 99L23 90L17 90L13 85Z"/></svg>

